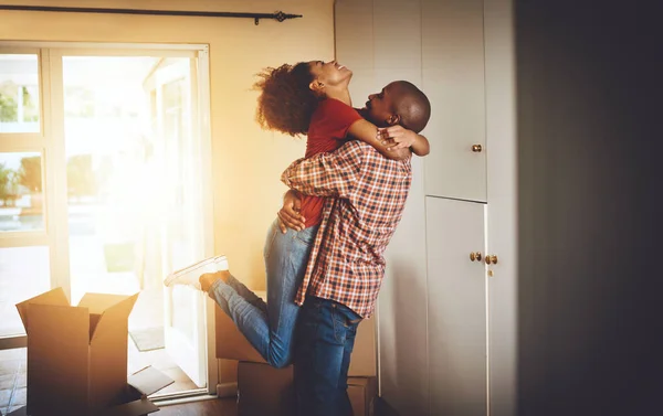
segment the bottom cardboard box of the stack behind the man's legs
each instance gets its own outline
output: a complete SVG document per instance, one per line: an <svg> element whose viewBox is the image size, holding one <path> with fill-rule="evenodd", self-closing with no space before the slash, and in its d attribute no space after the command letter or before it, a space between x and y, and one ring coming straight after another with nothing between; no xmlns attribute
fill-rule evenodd
<svg viewBox="0 0 663 416"><path fill-rule="evenodd" d="M277 370L269 364L240 362L238 366L238 415L295 415L293 377L293 366ZM377 394L377 377L348 377L348 396L355 416L373 416Z"/></svg>

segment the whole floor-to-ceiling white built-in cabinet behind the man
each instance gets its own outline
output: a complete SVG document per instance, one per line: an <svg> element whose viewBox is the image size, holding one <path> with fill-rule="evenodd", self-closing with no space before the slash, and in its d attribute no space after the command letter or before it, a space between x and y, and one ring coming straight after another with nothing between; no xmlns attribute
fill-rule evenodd
<svg viewBox="0 0 663 416"><path fill-rule="evenodd" d="M421 87L432 105L423 130L431 153L412 161L410 196L386 253L377 313L380 395L402 416L512 416L517 149L511 0L335 4L336 56L355 72L355 105L394 79ZM499 258L490 267L494 277L483 260L470 259L472 252L485 258L486 242Z"/></svg>

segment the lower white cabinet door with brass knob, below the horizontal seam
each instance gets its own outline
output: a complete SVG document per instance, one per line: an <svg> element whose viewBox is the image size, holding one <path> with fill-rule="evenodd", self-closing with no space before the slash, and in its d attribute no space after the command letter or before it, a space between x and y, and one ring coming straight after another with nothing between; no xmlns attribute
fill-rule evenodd
<svg viewBox="0 0 663 416"><path fill-rule="evenodd" d="M431 415L486 414L484 207L427 198Z"/></svg>

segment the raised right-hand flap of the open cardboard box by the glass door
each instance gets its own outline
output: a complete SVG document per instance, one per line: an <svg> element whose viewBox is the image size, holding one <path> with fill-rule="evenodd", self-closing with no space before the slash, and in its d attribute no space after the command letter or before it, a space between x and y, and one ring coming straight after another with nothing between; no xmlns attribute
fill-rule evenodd
<svg viewBox="0 0 663 416"><path fill-rule="evenodd" d="M90 338L90 342L92 343L95 338L103 335L104 332L112 332L115 328L126 328L127 320L129 318L129 313L131 313L131 309L134 309L134 305L136 303L136 299L138 299L138 295L131 295L129 297L119 296L119 295L99 295L99 294L90 294L95 295L92 297L87 297L85 302L81 302L80 305L87 306L87 308L93 308L91 311L96 311L99 309L99 305L104 308L101 318L97 321L96 328L92 331L92 335ZM94 302L94 303L91 303ZM98 303L96 303L98 301ZM91 322L92 323L92 322Z"/></svg>

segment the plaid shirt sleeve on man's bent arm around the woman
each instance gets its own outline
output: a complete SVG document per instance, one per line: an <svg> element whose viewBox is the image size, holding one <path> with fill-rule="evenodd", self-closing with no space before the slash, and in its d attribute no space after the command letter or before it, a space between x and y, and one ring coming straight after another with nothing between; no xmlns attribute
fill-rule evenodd
<svg viewBox="0 0 663 416"><path fill-rule="evenodd" d="M349 141L333 153L294 161L281 181L305 195L349 198L366 169L366 145Z"/></svg>

